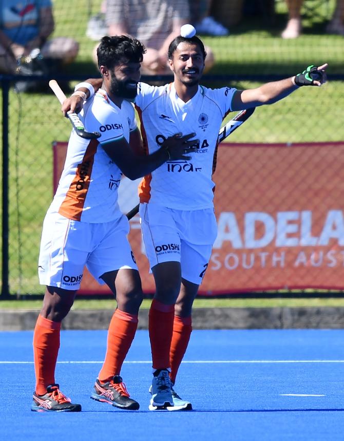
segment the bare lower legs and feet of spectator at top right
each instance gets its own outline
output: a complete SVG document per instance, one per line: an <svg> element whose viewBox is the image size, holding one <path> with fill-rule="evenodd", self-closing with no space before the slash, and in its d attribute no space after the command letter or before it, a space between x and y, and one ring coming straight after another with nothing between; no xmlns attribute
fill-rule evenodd
<svg viewBox="0 0 344 441"><path fill-rule="evenodd" d="M288 6L289 18L281 36L283 39L296 39L302 30L301 7L303 0L285 0L285 2ZM344 0L336 1L336 8L326 31L330 34L344 35Z"/></svg>

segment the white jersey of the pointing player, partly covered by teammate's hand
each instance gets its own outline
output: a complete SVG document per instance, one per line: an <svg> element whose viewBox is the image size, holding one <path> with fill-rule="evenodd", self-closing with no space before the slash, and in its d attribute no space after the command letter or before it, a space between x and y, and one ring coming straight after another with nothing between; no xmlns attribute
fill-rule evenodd
<svg viewBox="0 0 344 441"><path fill-rule="evenodd" d="M199 140L190 160L167 161L145 176L139 186L141 202L168 208L197 210L213 207L215 151L223 119L231 111L237 89L198 87L195 96L184 103L174 84L155 87L139 83L135 105L141 121L144 145L151 154L164 138L180 132L195 132Z"/></svg>

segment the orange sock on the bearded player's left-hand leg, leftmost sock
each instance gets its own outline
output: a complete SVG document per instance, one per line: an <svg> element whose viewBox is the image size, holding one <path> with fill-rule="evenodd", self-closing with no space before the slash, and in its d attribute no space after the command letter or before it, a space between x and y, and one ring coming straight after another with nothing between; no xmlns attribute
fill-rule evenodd
<svg viewBox="0 0 344 441"><path fill-rule="evenodd" d="M44 395L47 386L55 383L56 360L60 348L61 322L38 316L33 332L33 360L37 395Z"/></svg>

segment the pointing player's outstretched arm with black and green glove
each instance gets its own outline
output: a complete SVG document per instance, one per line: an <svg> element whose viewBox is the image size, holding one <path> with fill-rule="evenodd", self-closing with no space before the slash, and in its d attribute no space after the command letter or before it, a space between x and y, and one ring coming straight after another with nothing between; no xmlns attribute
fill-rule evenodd
<svg viewBox="0 0 344 441"><path fill-rule="evenodd" d="M232 100L232 110L243 110L250 107L273 104L287 97L300 86L321 86L326 83L328 64L309 66L302 73L280 81L265 83L256 89L238 90Z"/></svg>

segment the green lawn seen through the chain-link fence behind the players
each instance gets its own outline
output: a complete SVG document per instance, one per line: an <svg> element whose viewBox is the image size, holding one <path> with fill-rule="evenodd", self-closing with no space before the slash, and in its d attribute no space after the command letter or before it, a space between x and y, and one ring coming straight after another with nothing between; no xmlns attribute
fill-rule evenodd
<svg viewBox="0 0 344 441"><path fill-rule="evenodd" d="M91 60L95 42L85 35L89 16L99 11L101 0L68 3L54 0L55 36L69 35L80 42L75 63L62 73L97 75ZM90 9L89 9L89 5ZM333 9L334 1L331 2ZM331 11L330 11L331 12ZM216 64L209 73L292 75L310 63L328 62L329 74L344 73L343 38L324 34L327 20L304 21L303 34L294 41L279 37L286 22L284 2L277 2L276 21L268 27L260 18L244 18L228 37L204 37ZM56 72L61 73L61 72ZM208 81L218 87L223 84ZM238 88L260 83L241 81ZM314 142L344 140L344 82L321 88L303 87L272 106L256 110L254 117L231 137L233 142ZM227 119L230 119L228 116ZM46 209L52 198L52 142L67 141L70 124L52 93L10 91L10 250L12 294L43 293L37 280L37 256ZM225 185L221 183L221 185Z"/></svg>

